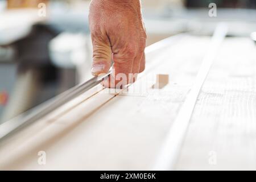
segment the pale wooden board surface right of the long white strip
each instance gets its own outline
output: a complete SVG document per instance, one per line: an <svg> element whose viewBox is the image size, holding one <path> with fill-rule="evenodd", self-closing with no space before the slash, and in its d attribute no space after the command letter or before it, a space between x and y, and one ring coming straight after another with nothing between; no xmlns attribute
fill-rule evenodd
<svg viewBox="0 0 256 182"><path fill-rule="evenodd" d="M201 90L177 169L256 169L255 78L254 43L227 38Z"/></svg>

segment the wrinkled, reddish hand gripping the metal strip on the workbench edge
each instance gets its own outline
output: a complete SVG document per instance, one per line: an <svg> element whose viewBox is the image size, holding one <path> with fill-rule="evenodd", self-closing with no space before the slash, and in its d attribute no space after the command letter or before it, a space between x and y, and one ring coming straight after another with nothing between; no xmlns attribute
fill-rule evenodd
<svg viewBox="0 0 256 182"><path fill-rule="evenodd" d="M134 82L145 68L146 31L140 1L92 0L89 25L93 44L92 74L107 73L113 59L115 75L102 84L117 87L118 82L124 81L117 76L119 73L127 77L126 84Z"/></svg>

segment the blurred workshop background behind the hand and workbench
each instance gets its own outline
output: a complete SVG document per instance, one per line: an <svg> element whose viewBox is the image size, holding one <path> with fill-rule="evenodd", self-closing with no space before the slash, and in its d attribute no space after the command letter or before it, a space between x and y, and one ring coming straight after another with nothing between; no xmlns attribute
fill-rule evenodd
<svg viewBox="0 0 256 182"><path fill-rule="evenodd" d="M0 0L0 123L92 77L90 1ZM216 3L217 16L208 7ZM142 0L147 45L182 32L256 31L256 0Z"/></svg>

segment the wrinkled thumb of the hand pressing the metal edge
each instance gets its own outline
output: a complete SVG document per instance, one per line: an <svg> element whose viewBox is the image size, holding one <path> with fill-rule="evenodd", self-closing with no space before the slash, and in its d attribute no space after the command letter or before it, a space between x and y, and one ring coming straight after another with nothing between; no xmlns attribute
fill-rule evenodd
<svg viewBox="0 0 256 182"><path fill-rule="evenodd" d="M108 36L101 38L94 38L92 36L93 43L93 64L92 75L98 76L101 73L107 73L112 63L112 49Z"/></svg>

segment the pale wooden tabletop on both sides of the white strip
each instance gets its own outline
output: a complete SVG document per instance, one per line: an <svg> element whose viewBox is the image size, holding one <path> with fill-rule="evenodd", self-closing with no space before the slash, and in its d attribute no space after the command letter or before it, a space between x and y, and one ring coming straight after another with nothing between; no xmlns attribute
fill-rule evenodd
<svg viewBox="0 0 256 182"><path fill-rule="evenodd" d="M148 53L146 71L127 90L110 93L99 85L2 140L0 169L152 169L209 43L209 37L181 36ZM152 88L157 74L169 75L162 89ZM256 169L255 76L254 43L226 38L176 169ZM46 152L45 165L39 151Z"/></svg>

